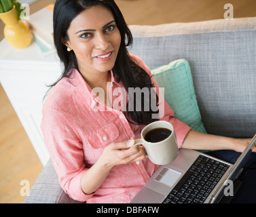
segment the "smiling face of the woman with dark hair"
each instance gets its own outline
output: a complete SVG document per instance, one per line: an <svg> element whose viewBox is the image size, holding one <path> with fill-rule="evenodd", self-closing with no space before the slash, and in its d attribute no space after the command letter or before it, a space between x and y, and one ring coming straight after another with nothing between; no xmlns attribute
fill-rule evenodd
<svg viewBox="0 0 256 217"><path fill-rule="evenodd" d="M85 9L72 20L67 34L69 40L63 43L75 53L85 79L96 78L113 68L121 36L109 9L100 5Z"/></svg>

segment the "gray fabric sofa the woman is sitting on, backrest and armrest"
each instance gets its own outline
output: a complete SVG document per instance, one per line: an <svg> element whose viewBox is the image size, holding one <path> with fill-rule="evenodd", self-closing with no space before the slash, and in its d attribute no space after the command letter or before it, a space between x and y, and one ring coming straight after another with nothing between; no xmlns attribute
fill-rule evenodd
<svg viewBox="0 0 256 217"><path fill-rule="evenodd" d="M232 137L256 132L256 17L130 26L130 52L149 68L185 58L206 131ZM78 203L62 191L51 161L25 203Z"/></svg>

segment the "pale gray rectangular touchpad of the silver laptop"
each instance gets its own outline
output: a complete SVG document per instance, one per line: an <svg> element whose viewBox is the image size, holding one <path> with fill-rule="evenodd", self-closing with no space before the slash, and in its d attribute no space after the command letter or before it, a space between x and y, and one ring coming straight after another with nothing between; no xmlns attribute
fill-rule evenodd
<svg viewBox="0 0 256 217"><path fill-rule="evenodd" d="M156 176L155 180L171 187L175 184L179 176L181 176L180 172L164 167L158 176Z"/></svg>

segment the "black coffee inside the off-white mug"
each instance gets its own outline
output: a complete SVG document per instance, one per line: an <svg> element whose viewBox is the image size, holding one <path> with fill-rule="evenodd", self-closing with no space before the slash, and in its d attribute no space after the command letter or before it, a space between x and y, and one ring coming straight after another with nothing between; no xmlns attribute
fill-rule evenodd
<svg viewBox="0 0 256 217"><path fill-rule="evenodd" d="M166 128L156 128L147 132L144 138L147 142L160 142L168 138L171 133L172 131Z"/></svg>

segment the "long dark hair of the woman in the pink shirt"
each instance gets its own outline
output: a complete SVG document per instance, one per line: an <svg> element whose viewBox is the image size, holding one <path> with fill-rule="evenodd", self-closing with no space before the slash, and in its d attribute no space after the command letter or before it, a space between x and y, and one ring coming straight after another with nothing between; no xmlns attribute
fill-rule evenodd
<svg viewBox="0 0 256 217"><path fill-rule="evenodd" d="M78 70L77 59L75 58L75 53L67 52L67 47L62 43L62 39L65 41L69 40L69 36L67 35L67 31L72 20L85 9L93 7L95 5L102 5L111 10L115 23L117 24L117 28L120 31L121 35L121 43L120 49L117 54L117 59L115 61L115 65L112 69L113 75L117 82L122 81L124 83L124 87L126 91L128 91L129 87L139 87L141 90L143 87L147 87L149 89L149 95L145 97L145 94L141 96L141 111L136 111L135 108L130 108L129 104L127 104L127 109L124 114L126 118L131 123L146 125L156 119L152 119L153 113L158 113L158 111L152 111L149 106L149 111L144 111L144 100L151 100L151 96L155 95L156 99L154 102L158 104L158 96L156 94L151 94L151 87L153 87L151 83L150 76L138 66L135 62L133 62L129 55L126 46L132 45L132 34L130 29L128 28L120 9L115 4L113 0L57 0L54 5L54 44L56 46L57 54L60 60L64 64L64 70L60 79L63 77L69 77L73 68ZM58 79L58 81L60 81ZM58 83L56 81L53 85ZM130 96L129 96L130 97ZM150 102L148 102L149 105ZM136 106L136 98L134 98L133 106Z"/></svg>

